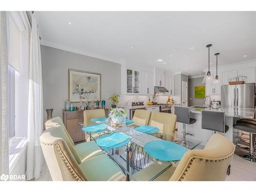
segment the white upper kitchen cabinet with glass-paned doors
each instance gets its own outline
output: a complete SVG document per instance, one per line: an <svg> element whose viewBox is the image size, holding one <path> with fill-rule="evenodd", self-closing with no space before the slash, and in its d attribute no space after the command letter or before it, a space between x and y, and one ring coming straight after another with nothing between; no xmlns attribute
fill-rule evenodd
<svg viewBox="0 0 256 192"><path fill-rule="evenodd" d="M140 93L140 72L137 70L127 69L126 75L127 75L126 93L139 94Z"/></svg>

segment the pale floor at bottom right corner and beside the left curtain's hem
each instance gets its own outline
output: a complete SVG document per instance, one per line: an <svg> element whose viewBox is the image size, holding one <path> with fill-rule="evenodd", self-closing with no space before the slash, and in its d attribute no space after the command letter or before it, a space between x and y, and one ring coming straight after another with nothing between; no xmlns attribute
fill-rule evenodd
<svg viewBox="0 0 256 192"><path fill-rule="evenodd" d="M37 181L52 181L46 165ZM231 173L227 176L226 181L256 181L256 163L234 155L231 163Z"/></svg>

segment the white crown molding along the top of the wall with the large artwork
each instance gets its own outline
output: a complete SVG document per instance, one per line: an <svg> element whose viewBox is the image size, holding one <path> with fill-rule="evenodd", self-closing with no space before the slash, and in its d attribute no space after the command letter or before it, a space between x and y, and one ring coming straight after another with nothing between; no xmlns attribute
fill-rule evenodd
<svg viewBox="0 0 256 192"><path fill-rule="evenodd" d="M60 49L60 50L64 50L64 51L69 51L69 52L77 53L77 54L80 54L80 55L86 55L86 56L94 57L94 58L101 59L101 60L115 62L115 63L118 63L118 64L121 64L123 62L123 60L115 60L115 59L111 59L109 57L103 57L103 56L100 56L100 55L97 55L97 54L94 54L94 53L85 52L85 51L80 50L80 49L75 49L75 48L72 48L72 47L69 47L69 46L56 44L55 42L51 42L51 41L47 41L47 40L43 40L43 39L40 40L40 45L47 46L47 47L52 47L52 48Z"/></svg>

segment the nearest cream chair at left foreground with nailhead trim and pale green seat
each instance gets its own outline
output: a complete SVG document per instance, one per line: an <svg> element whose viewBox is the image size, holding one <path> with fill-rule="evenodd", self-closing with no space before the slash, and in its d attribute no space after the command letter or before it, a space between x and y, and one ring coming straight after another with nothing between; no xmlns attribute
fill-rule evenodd
<svg viewBox="0 0 256 192"><path fill-rule="evenodd" d="M44 131L40 142L53 181L123 181L126 178L108 155L81 162L59 124Z"/></svg>

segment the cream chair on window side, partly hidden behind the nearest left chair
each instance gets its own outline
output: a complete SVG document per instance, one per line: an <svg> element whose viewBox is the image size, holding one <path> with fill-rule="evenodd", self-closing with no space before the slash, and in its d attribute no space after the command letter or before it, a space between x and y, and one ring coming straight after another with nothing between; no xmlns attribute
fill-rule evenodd
<svg viewBox="0 0 256 192"><path fill-rule="evenodd" d="M53 127L56 125L60 125L60 127L63 129L63 131L65 131L69 139L69 141L67 141L67 144L73 145L76 152L81 158L81 162L91 157L103 154L102 150L95 143L95 141L83 142L75 145L60 117L54 117L52 119L49 119L48 121L46 121L45 125L46 125L46 129L49 129L50 127Z"/></svg>

